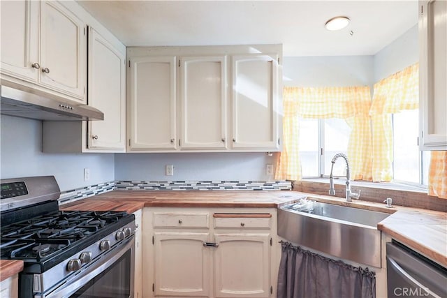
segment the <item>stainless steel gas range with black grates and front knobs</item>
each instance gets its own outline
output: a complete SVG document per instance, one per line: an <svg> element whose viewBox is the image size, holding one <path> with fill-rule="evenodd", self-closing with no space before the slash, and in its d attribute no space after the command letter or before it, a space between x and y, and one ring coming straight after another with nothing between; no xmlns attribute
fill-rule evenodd
<svg viewBox="0 0 447 298"><path fill-rule="evenodd" d="M133 297L135 216L59 211L52 176L1 180L0 258L23 260L19 297Z"/></svg>

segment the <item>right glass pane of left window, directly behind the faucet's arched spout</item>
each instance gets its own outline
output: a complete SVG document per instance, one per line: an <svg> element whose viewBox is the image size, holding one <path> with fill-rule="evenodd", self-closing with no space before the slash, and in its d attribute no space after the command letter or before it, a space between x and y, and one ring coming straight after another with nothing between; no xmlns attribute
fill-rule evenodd
<svg viewBox="0 0 447 298"><path fill-rule="evenodd" d="M332 158L337 153L348 155L348 141L351 128L344 119L324 120L324 174L330 175ZM346 163L343 158L337 159L334 164L334 176L346 177Z"/></svg>

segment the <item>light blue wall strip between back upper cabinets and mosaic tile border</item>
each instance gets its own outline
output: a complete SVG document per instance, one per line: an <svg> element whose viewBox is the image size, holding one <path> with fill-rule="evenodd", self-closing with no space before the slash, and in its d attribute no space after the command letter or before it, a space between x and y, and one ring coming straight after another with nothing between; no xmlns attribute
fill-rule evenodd
<svg viewBox="0 0 447 298"><path fill-rule="evenodd" d="M265 165L275 164L265 153L115 154L115 179L151 181L220 181L273 179ZM174 165L174 175L165 166Z"/></svg>

